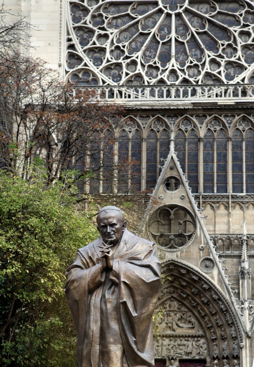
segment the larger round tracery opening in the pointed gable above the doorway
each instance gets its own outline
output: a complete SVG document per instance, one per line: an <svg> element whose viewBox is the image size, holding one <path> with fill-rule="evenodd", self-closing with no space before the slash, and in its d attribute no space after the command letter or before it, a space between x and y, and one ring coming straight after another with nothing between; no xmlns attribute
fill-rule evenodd
<svg viewBox="0 0 254 367"><path fill-rule="evenodd" d="M148 223L150 239L167 251L179 251L188 246L195 232L196 222L192 213L176 204L157 208Z"/></svg>

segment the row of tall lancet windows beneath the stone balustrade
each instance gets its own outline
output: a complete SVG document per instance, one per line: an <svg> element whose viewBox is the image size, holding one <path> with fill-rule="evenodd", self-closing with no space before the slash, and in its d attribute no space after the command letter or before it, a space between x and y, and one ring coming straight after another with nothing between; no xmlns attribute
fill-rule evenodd
<svg viewBox="0 0 254 367"><path fill-rule="evenodd" d="M251 120L235 115L174 119L175 152L193 194L254 193ZM138 116L126 119L120 131L108 130L95 139L91 152L79 162L89 162L94 172L89 192L124 194L154 188L170 150L172 121L172 116Z"/></svg>

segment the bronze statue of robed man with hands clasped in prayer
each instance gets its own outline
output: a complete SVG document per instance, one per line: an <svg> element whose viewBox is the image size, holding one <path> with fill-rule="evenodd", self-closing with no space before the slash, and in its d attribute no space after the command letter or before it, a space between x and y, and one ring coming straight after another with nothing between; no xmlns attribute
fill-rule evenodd
<svg viewBox="0 0 254 367"><path fill-rule="evenodd" d="M155 244L129 232L117 207L102 208L97 224L99 238L80 248L66 271L79 366L152 367L161 288Z"/></svg>

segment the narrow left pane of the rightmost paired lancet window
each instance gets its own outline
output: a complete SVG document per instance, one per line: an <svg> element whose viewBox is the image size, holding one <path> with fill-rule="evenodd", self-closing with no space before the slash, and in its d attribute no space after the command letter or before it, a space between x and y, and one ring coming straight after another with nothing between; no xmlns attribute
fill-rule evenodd
<svg viewBox="0 0 254 367"><path fill-rule="evenodd" d="M243 192L243 134L238 128L232 135L232 190Z"/></svg>

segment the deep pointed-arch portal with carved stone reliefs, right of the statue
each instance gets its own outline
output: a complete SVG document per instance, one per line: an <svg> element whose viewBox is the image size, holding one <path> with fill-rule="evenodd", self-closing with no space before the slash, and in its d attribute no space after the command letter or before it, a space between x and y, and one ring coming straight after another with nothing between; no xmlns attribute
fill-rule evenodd
<svg viewBox="0 0 254 367"><path fill-rule="evenodd" d="M230 367L233 360L238 363L242 331L222 292L201 272L177 259L164 261L163 270L166 281L158 302L156 360L181 367L212 366L215 359L218 367L225 360Z"/></svg>

